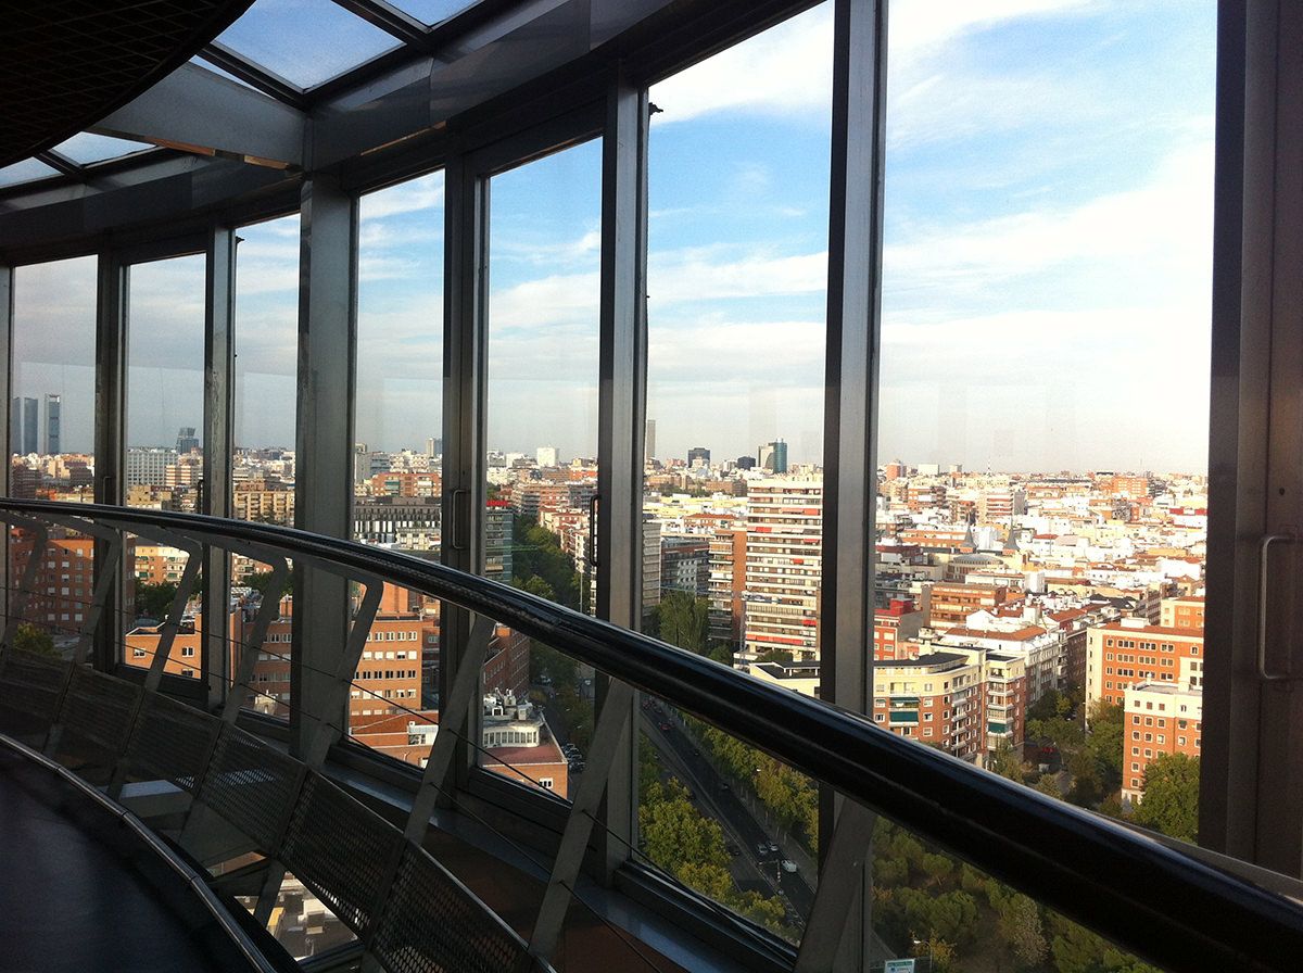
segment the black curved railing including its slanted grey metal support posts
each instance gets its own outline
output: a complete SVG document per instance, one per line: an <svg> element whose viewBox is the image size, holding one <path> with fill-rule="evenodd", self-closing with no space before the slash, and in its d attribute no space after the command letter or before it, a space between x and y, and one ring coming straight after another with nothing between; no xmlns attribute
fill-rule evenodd
<svg viewBox="0 0 1303 973"><path fill-rule="evenodd" d="M0 518L22 528L43 522L85 533L106 528L155 535L165 531L181 542L179 546L192 550L210 544L251 551L268 563L289 557L360 581L361 607L349 632L347 658L336 673L343 692L340 712L347 706L348 683L375 613L375 585L380 582L443 599L476 619L461 646L448 698L442 701L440 724L459 727L466 720L480 693L478 673L494 621L563 647L567 655L610 676L586 757L588 770L573 795L529 942L528 955L536 963L546 963L556 946L606 782L618 759L618 742L633 718L635 690L666 699L850 798L830 838L796 969L831 965L837 939L857 900L856 875L866 857L873 814L904 825L1166 969L1286 970L1295 969L1303 956L1303 910L1281 895L1100 815L896 737L863 715L774 688L521 590L403 554L272 525L18 500L0 503ZM182 594L179 591L177 599L184 604ZM12 625L7 634L12 636ZM154 660L151 673L162 673L162 645L160 653L164 659ZM9 655L5 672L12 664ZM317 729L300 753L309 774L318 772L330 745L343 732L326 722ZM220 732L242 733L233 726ZM421 844L438 795L453 785L456 742L453 733L435 737L405 831L414 847ZM308 793L301 800L311 797Z"/></svg>

